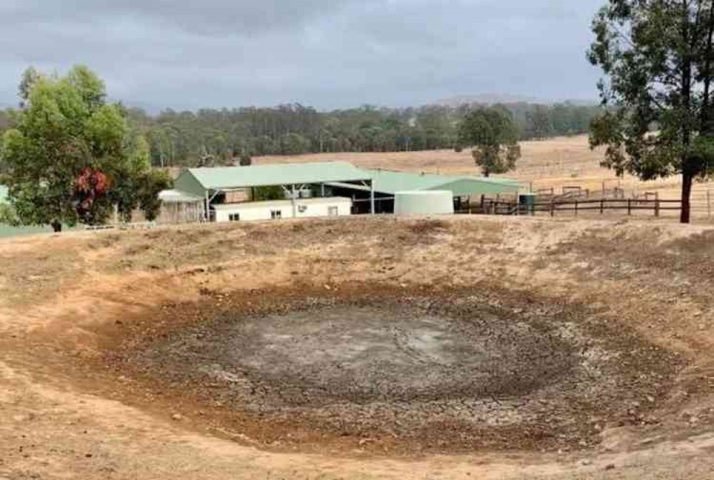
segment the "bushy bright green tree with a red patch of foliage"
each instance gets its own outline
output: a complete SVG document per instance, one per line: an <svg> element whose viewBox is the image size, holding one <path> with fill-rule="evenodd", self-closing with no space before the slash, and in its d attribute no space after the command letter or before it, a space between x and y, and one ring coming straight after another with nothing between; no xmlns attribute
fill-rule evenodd
<svg viewBox="0 0 714 480"><path fill-rule="evenodd" d="M12 214L4 208L6 219L59 231L104 223L120 198L155 209L149 193L158 193L164 179L148 173L146 141L141 151L126 147L124 110L106 103L98 76L84 66L64 77L31 71L20 93L21 111L0 143L0 183L9 189ZM131 186L119 195L122 185Z"/></svg>

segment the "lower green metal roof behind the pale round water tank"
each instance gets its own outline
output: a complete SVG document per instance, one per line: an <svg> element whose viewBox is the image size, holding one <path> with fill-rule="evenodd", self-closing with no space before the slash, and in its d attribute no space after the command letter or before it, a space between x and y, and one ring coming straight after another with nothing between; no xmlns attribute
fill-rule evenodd
<svg viewBox="0 0 714 480"><path fill-rule="evenodd" d="M366 171L374 179L374 190L389 195L413 190L451 190L454 196L488 195L515 191L521 186L505 178L455 177L392 170Z"/></svg>

